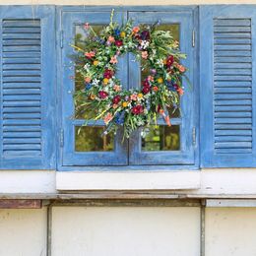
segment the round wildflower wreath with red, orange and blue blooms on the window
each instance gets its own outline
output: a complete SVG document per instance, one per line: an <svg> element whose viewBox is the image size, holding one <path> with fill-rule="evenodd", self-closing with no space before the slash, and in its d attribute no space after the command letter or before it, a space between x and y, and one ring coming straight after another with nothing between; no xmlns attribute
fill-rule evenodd
<svg viewBox="0 0 256 256"><path fill-rule="evenodd" d="M170 32L157 29L158 24L133 27L132 21L120 26L113 23L112 12L108 26L96 33L85 24L87 37L72 45L76 72L85 83L75 93L75 103L80 102L80 110L90 110L91 120L103 119L104 134L123 127L129 138L134 130L157 123L160 116L170 125L169 109L178 108L183 95L186 68L179 62L185 54ZM149 71L140 89L124 90L116 77L118 57L128 52L143 63L142 70Z"/></svg>

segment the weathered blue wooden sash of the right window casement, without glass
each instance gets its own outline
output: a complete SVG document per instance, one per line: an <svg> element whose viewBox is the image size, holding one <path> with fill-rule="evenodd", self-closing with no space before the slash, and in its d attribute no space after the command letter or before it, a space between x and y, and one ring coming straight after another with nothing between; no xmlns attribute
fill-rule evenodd
<svg viewBox="0 0 256 256"><path fill-rule="evenodd" d="M193 143L193 130L198 117L195 106L195 95L197 85L194 85L194 75L196 72L196 48L192 46L192 33L196 28L193 8L184 11L171 12L129 12L129 18L137 24L153 24L160 21L161 24L178 24L180 27L180 49L187 54L187 59L183 64L189 68L188 78L193 85L192 88L186 84L184 87L186 94L182 96L181 118L172 119L173 125L180 125L180 151L143 152L141 150L140 132L135 133L129 144L130 164L195 164L196 142ZM131 58L133 58L131 56ZM140 87L140 67L138 63L129 62L129 86ZM162 120L159 124L164 125Z"/></svg>

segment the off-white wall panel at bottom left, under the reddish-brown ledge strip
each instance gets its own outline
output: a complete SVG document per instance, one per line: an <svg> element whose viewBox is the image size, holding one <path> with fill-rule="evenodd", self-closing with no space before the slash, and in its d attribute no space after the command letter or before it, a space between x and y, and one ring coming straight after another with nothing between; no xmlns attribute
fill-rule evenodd
<svg viewBox="0 0 256 256"><path fill-rule="evenodd" d="M46 255L46 209L0 209L0 256Z"/></svg>

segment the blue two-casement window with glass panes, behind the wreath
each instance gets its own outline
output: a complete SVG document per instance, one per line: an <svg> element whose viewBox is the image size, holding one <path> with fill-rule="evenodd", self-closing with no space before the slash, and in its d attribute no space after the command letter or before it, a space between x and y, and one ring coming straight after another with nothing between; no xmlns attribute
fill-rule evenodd
<svg viewBox="0 0 256 256"><path fill-rule="evenodd" d="M88 122L83 126L90 113L80 112L73 103L73 93L77 87L84 86L76 75L75 69L69 69L70 55L73 49L70 46L73 38L86 36L83 24L88 22L95 29L109 23L110 9L106 12L82 10L72 12L64 8L62 12L61 30L63 32L63 48L61 67L62 81L62 124L64 144L61 154L61 165L87 166L87 165L164 165L164 164L195 164L196 145L193 133L196 126L195 92L196 86L187 87L187 94L181 99L181 112L175 111L172 116L172 126L166 126L158 120L158 127L150 129L150 134L142 139L140 132L134 134L129 140L122 142L122 132L115 136L101 136L103 122ZM194 10L158 11L115 11L116 21L132 19L135 24L153 24L160 21L161 30L170 30L180 42L180 48L186 52L187 59L184 64L189 67L188 77L193 83L195 67L193 59L196 58L193 47ZM65 28L65 29L64 29ZM123 85L129 88L139 87L145 72L140 69L140 63L134 56L127 54L119 61L119 78ZM71 80L70 77L75 77ZM185 83L184 83L185 84ZM76 108L77 107L77 108ZM75 115L75 112L77 113Z"/></svg>

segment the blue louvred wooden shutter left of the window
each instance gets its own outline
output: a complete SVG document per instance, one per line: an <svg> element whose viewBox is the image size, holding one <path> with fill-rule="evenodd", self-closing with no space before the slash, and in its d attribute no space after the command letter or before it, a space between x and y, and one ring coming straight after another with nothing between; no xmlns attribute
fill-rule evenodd
<svg viewBox="0 0 256 256"><path fill-rule="evenodd" d="M54 168L54 7L0 11L0 168Z"/></svg>

